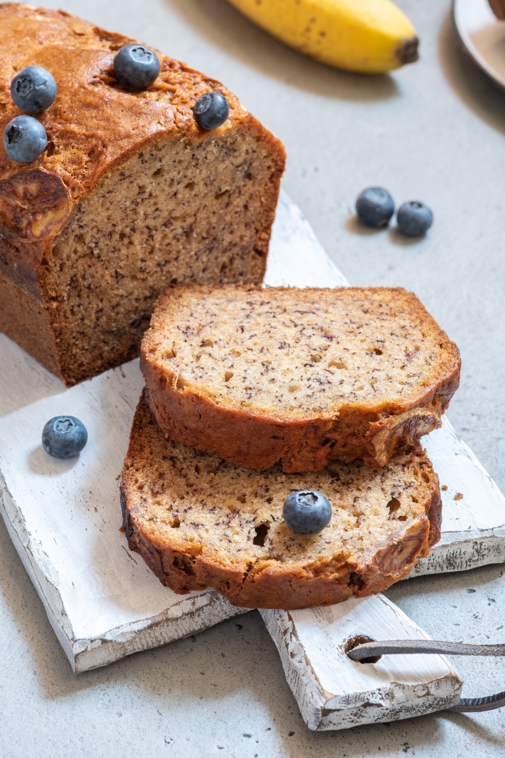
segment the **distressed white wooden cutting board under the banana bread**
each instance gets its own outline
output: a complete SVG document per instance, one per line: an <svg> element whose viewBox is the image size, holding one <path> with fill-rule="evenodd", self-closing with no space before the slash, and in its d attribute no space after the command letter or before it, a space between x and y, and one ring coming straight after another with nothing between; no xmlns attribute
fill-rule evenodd
<svg viewBox="0 0 505 758"><path fill-rule="evenodd" d="M266 281L347 284L285 194ZM74 671L243 612L214 590L173 594L129 552L119 531L119 477L143 384L138 361L67 390L3 334L0 357L0 509ZM88 428L89 442L77 459L51 459L40 444L45 421L61 413L78 416ZM416 574L505 560L500 491L447 421L425 440L447 490L441 543ZM454 500L457 493L463 499ZM459 697L460 678L443 656L389 656L373 666L345 656L344 642L354 634L426 638L384 597L262 613L310 728L407 718Z"/></svg>

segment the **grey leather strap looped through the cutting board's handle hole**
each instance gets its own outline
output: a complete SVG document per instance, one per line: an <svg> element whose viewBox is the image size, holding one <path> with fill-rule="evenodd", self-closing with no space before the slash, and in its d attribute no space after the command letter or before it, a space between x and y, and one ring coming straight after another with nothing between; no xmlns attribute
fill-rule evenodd
<svg viewBox="0 0 505 758"><path fill-rule="evenodd" d="M348 650L351 660L375 663L385 655L413 655L428 653L450 656L505 656L505 645L467 645L463 642L439 642L435 640L388 640L358 644ZM460 713L493 710L505 706L505 692L488 697L460 697L449 710Z"/></svg>

